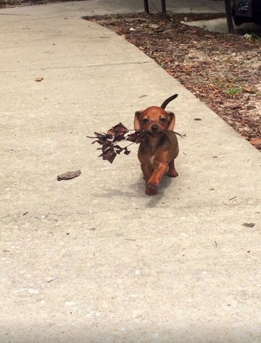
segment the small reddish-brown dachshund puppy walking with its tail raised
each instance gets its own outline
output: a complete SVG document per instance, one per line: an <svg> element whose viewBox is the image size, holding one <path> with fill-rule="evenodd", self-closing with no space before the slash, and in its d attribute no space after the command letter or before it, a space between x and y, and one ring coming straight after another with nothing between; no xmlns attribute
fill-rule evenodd
<svg viewBox="0 0 261 343"><path fill-rule="evenodd" d="M177 94L166 99L161 107L152 106L135 113L134 129L145 132L138 158L146 182L146 195L157 194L165 174L171 178L178 175L174 165L179 153L177 137L173 132L175 114L165 111L168 102L175 98Z"/></svg>

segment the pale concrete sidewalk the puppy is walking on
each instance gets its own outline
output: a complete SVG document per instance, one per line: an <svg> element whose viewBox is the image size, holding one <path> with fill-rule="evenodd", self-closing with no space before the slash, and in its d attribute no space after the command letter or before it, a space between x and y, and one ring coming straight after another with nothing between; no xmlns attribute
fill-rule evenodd
<svg viewBox="0 0 261 343"><path fill-rule="evenodd" d="M261 342L260 153L94 3L0 10L0 342ZM86 135L173 93L180 176L148 197L138 147Z"/></svg>

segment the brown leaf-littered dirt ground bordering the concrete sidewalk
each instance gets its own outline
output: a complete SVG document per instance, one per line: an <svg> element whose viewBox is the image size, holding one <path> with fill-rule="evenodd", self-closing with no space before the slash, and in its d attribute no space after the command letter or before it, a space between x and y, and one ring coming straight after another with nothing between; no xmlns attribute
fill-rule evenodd
<svg viewBox="0 0 261 343"><path fill-rule="evenodd" d="M0 0L0 8L52 2L59 1ZM261 151L261 38L213 33L182 23L221 16L140 13L85 19L139 47Z"/></svg>

